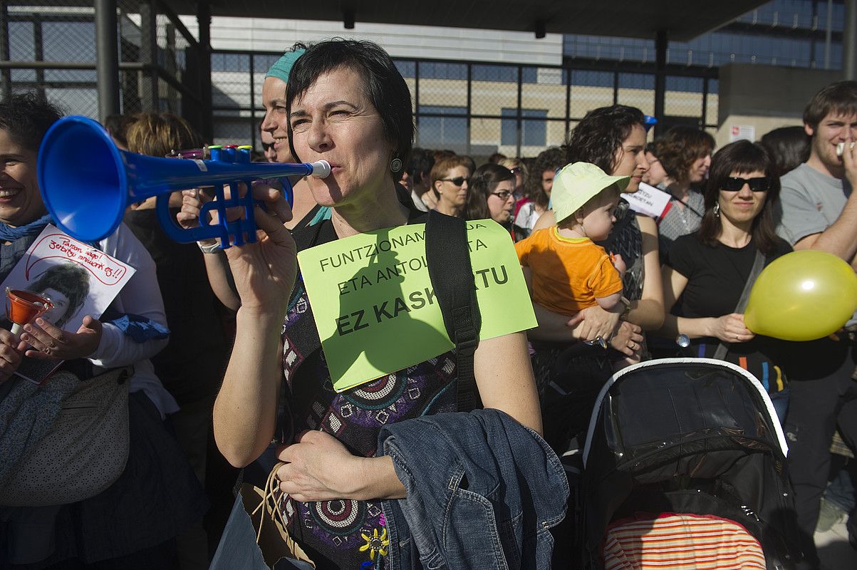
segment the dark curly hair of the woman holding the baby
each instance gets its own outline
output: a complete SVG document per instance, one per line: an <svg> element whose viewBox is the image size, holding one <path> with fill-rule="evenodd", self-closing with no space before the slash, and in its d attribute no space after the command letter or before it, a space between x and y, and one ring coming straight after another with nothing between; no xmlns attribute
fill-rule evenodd
<svg viewBox="0 0 857 570"><path fill-rule="evenodd" d="M616 166L616 150L635 125L645 128L643 111L628 105L598 107L584 115L566 141L566 164L589 162L608 174Z"/></svg>

